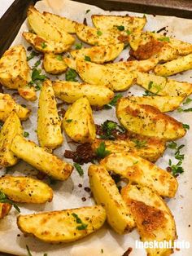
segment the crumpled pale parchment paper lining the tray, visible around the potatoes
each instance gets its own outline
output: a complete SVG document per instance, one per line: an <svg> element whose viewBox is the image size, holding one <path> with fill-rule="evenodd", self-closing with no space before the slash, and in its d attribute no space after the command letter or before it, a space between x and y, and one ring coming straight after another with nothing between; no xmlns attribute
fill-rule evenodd
<svg viewBox="0 0 192 256"><path fill-rule="evenodd" d="M37 2L36 7L39 11L50 11L55 14L64 15L72 20L83 22L86 18L88 25L92 25L90 16L92 14L129 14L129 15L139 15L142 14L131 13L128 11L103 11L102 9L94 6L90 6L84 3L72 2L68 0L45 0ZM90 10L85 14L86 10ZM183 41L192 43L192 20L185 20L176 17L159 16L159 15L146 15L148 20L145 30L159 30L165 26L168 26L168 36L175 36ZM20 32L18 33L13 45L22 44L26 47L29 46L27 42L22 38L22 32L28 30L27 22L25 21L22 25ZM76 40L78 41L78 40ZM29 55L30 52L28 52ZM124 58L126 60L129 57L129 49L124 50L124 52L117 58L116 61ZM39 59L39 57L30 60L29 64L33 67L33 64ZM173 77L179 81L192 82L191 70L185 73L178 74ZM55 80L55 76L49 76L50 79ZM64 79L64 75L60 75L59 79ZM14 91L5 90L12 94ZM144 90L139 86L133 86L129 91L134 95L142 95ZM128 91L124 92L124 95L128 95ZM23 122L24 130L28 131L29 138L37 143L37 135L35 130L37 129L37 102L30 103L21 99L20 96L15 96L15 99L20 104L26 104L28 108L32 109L32 114L28 121ZM189 108L192 104L189 104ZM64 106L67 108L67 106ZM177 120L187 123L192 127L192 114L191 113L170 113L172 117L177 118ZM115 109L103 110L94 112L94 121L96 124L100 124L103 121L111 119L117 121ZM63 157L63 152L65 149L74 148L72 143L68 143L70 140L66 135L64 139L63 146L55 150L55 154L59 157ZM192 157L190 152L190 143L192 140L191 131L188 130L185 138L177 141L178 144L185 144L185 148L182 152L185 153L185 160L183 161L183 167L185 170L184 174L181 174L177 179L179 182L179 188L177 191L177 196L168 201L168 206L172 210L172 214L175 217L177 225L177 235L179 241L190 241L192 244L192 206L190 204L190 197L192 196L192 174L190 166L192 166ZM171 158L174 163L173 152L168 149L164 152L164 157L157 161L157 165L166 168L168 166L168 159ZM86 205L94 205L93 199L90 197L89 192L85 192L85 187L89 187L89 179L87 176L87 166L84 165L85 170L84 177L80 177L76 170L73 171L72 176L66 182L57 182L51 187L54 189L55 196L51 203L46 203L45 205L24 205L20 204L21 214L32 214L34 212L48 211L48 210L63 210L68 208L76 208ZM1 170L2 174L4 170ZM37 171L34 170L32 166L28 166L23 161L20 161L16 166L8 169L8 174L15 175L31 175L35 176ZM49 181L47 180L47 183ZM82 188L79 188L79 184L82 184ZM81 198L85 197L86 201L82 201ZM105 224L98 232L82 239L81 241L76 241L75 243L70 243L68 245L49 245L38 241L33 237L24 237L20 230L16 226L16 212L11 210L11 213L1 220L0 222L0 251L7 252L15 255L26 255L26 245L28 245L31 253L34 255L43 255L47 253L49 256L98 256L98 255L110 255L110 256L121 256L124 254L129 247L133 248L130 255L132 256L144 256L146 252L144 249L135 249L135 241L139 240L137 231L134 230L124 236L120 236L113 232L111 228ZM191 227L190 227L191 225ZM103 253L102 253L103 249ZM188 256L190 255L190 249L181 249L175 251L174 255Z"/></svg>

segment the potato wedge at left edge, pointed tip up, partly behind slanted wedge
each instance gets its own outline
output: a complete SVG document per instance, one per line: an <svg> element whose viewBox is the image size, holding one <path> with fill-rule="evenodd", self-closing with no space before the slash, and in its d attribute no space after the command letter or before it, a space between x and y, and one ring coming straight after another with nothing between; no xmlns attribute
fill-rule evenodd
<svg viewBox="0 0 192 256"><path fill-rule="evenodd" d="M18 159L11 152L11 142L15 135L22 135L20 118L12 111L0 132L0 166L14 166Z"/></svg>

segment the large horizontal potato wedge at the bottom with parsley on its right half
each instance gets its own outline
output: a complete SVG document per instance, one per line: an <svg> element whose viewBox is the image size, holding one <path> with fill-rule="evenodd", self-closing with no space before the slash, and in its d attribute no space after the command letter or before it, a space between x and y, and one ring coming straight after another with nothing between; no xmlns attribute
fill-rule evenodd
<svg viewBox="0 0 192 256"><path fill-rule="evenodd" d="M19 215L17 226L24 234L32 234L41 241L68 243L97 231L106 220L100 205L38 214ZM43 223L43 225L42 225Z"/></svg>

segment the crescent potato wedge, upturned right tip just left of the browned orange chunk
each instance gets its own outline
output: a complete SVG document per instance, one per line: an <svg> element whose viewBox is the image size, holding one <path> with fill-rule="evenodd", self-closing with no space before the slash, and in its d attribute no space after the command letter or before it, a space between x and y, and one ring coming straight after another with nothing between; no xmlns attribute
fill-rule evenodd
<svg viewBox="0 0 192 256"><path fill-rule="evenodd" d="M105 62L115 60L121 51L124 50L124 43L111 44L107 46L94 46L90 48L82 48L81 50L71 51L70 54L74 59L85 60L88 56L91 62L103 64Z"/></svg>

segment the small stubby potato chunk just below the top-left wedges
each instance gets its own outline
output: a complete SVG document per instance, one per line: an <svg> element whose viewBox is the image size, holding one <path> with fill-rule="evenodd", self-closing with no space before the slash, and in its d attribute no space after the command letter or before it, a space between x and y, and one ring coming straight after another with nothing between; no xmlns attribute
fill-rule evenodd
<svg viewBox="0 0 192 256"><path fill-rule="evenodd" d="M55 55L53 53L46 53L43 59L43 68L46 73L59 74L64 73L68 66L64 62L63 55Z"/></svg>

